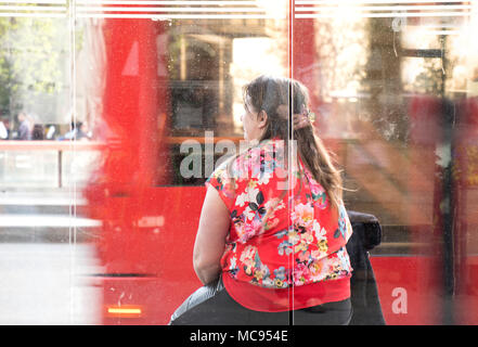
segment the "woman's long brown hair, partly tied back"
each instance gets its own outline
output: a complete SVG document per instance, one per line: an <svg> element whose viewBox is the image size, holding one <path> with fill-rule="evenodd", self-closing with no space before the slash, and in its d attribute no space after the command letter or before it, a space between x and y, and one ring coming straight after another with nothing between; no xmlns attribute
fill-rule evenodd
<svg viewBox="0 0 478 347"><path fill-rule="evenodd" d="M244 86L243 99L258 114L264 111L268 115L266 130L259 141L280 138L288 145L289 140L296 140L303 165L324 188L332 206L338 207L343 198L343 181L331 154L314 133L312 125L293 129L294 115L303 113L309 103L307 88L294 79L259 76Z"/></svg>

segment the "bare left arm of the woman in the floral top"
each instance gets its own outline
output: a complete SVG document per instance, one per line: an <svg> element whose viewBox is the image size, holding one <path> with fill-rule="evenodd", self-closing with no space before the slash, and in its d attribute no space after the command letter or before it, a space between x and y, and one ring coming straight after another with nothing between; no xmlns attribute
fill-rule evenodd
<svg viewBox="0 0 478 347"><path fill-rule="evenodd" d="M219 193L208 187L194 243L193 265L203 284L219 277L220 260L229 232L230 214Z"/></svg>

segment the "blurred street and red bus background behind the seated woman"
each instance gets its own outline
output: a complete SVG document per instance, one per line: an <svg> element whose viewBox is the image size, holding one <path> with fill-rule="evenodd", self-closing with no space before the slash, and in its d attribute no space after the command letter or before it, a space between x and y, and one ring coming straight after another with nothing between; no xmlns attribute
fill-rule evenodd
<svg viewBox="0 0 478 347"><path fill-rule="evenodd" d="M166 324L199 285L181 162L270 74L380 221L387 323L477 324L477 30L476 1L0 1L0 323Z"/></svg>

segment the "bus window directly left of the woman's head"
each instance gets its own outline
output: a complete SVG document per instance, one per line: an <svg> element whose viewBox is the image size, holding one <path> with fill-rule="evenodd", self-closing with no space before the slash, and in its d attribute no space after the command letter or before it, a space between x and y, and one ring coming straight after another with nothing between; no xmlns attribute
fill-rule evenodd
<svg viewBox="0 0 478 347"><path fill-rule="evenodd" d="M170 23L163 47L167 52L170 97L169 184L204 184L215 164L231 155L227 149L217 147L217 143L232 141L238 149L243 139L242 86L259 74L287 76L288 48L281 37L286 33L284 23L247 16ZM186 139L201 151L188 151ZM206 145L208 141L211 145ZM210 163L207 156L212 157ZM199 163L201 169L181 175L181 163L186 157Z"/></svg>

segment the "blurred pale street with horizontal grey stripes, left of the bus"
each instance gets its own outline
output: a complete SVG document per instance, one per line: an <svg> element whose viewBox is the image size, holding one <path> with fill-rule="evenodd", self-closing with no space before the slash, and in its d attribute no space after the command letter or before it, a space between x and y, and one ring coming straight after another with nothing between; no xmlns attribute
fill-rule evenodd
<svg viewBox="0 0 478 347"><path fill-rule="evenodd" d="M101 223L72 190L0 191L0 324L99 324Z"/></svg>

